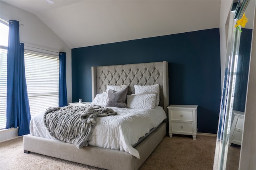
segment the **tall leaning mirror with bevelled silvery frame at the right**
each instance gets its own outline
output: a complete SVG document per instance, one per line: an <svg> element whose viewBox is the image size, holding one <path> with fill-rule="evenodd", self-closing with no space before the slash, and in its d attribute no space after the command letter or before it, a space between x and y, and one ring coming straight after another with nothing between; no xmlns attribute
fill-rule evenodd
<svg viewBox="0 0 256 170"><path fill-rule="evenodd" d="M255 2L234 0L230 13L214 170L236 170L239 166ZM249 21L245 28L240 26L241 33L235 25L244 13Z"/></svg>

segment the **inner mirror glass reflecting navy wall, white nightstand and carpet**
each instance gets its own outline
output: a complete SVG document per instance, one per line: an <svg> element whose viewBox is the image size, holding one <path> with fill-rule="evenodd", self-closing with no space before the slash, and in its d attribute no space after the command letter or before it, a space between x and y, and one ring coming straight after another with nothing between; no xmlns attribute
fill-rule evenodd
<svg viewBox="0 0 256 170"><path fill-rule="evenodd" d="M245 28L241 29L242 33L240 35L236 73L234 73L236 80L226 170L238 170L239 168L252 44L252 21L254 20L254 10L255 1L251 0L248 3L247 8L244 10L246 18L248 18L249 21L246 23Z"/></svg>

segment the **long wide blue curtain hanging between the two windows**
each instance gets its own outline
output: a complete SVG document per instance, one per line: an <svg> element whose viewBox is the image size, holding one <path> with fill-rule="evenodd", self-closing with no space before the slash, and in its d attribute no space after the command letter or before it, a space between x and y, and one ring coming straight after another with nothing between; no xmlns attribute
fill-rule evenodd
<svg viewBox="0 0 256 170"><path fill-rule="evenodd" d="M9 22L7 52L6 129L17 128L18 135L29 134L30 109L24 66L24 44L20 43L19 22Z"/></svg>

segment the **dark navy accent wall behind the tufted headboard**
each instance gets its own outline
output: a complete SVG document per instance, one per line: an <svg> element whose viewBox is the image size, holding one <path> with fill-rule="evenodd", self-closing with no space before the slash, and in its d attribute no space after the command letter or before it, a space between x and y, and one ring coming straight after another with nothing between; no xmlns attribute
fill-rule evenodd
<svg viewBox="0 0 256 170"><path fill-rule="evenodd" d="M216 134L219 37L214 28L72 49L72 101L92 101L91 66L168 61L169 103L198 105L198 132Z"/></svg>

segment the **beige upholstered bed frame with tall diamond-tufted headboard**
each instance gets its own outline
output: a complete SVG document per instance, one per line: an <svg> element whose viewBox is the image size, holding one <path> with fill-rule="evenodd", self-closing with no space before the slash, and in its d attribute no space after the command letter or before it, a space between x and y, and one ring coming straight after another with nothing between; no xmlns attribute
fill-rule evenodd
<svg viewBox="0 0 256 170"><path fill-rule="evenodd" d="M168 106L168 63L139 63L92 67L92 99L106 90L107 85L128 85L128 94L134 93L134 85L160 84L160 106L167 113ZM162 138L166 135L166 122L163 122L135 149L140 159L131 154L95 146L82 149L59 140L41 138L32 135L23 137L24 152L35 152L72 162L78 162L110 170L136 170L148 158Z"/></svg>

